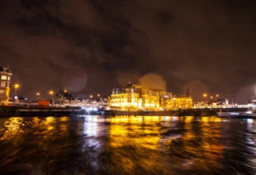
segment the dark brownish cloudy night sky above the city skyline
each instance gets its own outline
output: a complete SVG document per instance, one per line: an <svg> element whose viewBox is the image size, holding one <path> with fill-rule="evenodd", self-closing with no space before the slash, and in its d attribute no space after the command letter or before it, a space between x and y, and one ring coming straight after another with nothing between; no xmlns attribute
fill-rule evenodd
<svg viewBox="0 0 256 175"><path fill-rule="evenodd" d="M256 94L255 0L1 0L0 64L18 94L116 85L192 90L247 103Z"/></svg>

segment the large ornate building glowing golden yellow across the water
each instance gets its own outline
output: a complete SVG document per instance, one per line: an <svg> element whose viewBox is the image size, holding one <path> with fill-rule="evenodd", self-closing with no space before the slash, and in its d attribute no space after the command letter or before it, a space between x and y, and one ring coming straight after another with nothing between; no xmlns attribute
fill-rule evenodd
<svg viewBox="0 0 256 175"><path fill-rule="evenodd" d="M126 111L161 111L172 109L191 109L192 97L187 95L172 95L172 92L160 89L145 89L142 86L131 84L126 87L112 89L111 107Z"/></svg>

